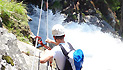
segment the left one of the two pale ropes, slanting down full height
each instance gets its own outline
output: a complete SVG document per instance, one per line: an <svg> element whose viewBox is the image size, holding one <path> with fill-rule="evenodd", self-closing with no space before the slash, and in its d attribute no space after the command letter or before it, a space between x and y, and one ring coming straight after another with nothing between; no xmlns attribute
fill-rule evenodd
<svg viewBox="0 0 123 70"><path fill-rule="evenodd" d="M39 36L39 29L40 29L41 15L42 15L42 6L43 6L43 0L41 2L41 10L40 10L40 17L39 17L37 36ZM35 48L37 47L37 42L38 42L38 38L36 38ZM36 49L34 51L34 56L35 56L35 54L36 54ZM33 62L32 62L32 70L34 69L33 67L34 67L34 58L33 58Z"/></svg>

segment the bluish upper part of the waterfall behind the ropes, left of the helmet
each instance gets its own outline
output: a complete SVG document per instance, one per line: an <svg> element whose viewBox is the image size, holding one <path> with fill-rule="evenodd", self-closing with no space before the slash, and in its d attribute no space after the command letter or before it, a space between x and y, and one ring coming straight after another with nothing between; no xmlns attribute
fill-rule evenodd
<svg viewBox="0 0 123 70"><path fill-rule="evenodd" d="M29 15L33 21L30 21L29 22L29 26L30 26L30 29L31 31L33 32L34 35L37 34L37 29L38 29L38 23L39 23L39 15L40 15L40 9L38 7L34 7L32 5L32 7L34 8L32 12L33 15ZM40 27L40 31L39 31L39 36L42 37L43 39L43 42L45 42L45 39L46 39L46 24L47 24L47 12L46 11L42 11L42 16L41 16L41 27ZM51 33L51 30L52 30L52 27L53 25L55 24L62 24L63 20L64 20L64 16L61 16L60 13L57 13L55 15L53 15L52 11L49 10L48 11L48 29L49 29L49 38L52 38L52 33ZM53 39L53 38L52 38Z"/></svg>

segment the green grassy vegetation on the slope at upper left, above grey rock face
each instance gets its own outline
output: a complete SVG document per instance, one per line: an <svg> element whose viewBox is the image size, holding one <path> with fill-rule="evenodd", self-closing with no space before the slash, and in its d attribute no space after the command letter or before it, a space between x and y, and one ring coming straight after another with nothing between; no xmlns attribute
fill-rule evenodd
<svg viewBox="0 0 123 70"><path fill-rule="evenodd" d="M25 38L22 39L22 37L28 38L30 36L26 6L22 2L0 0L0 17L4 27L17 35L19 40L23 41Z"/></svg>

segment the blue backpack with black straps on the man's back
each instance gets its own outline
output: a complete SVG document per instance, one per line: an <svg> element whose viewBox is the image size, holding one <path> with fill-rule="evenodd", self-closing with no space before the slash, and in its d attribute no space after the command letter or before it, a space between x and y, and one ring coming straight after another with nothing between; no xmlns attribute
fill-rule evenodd
<svg viewBox="0 0 123 70"><path fill-rule="evenodd" d="M69 42L68 42L68 45L70 46L70 49L71 49L69 52L67 52L65 50L65 48L61 44L59 44L63 54L66 57L66 61L65 61L63 70L81 70L83 60L84 60L83 51L81 49L75 50ZM72 51L74 51L74 52L72 52ZM70 57L68 56L69 53L71 53L71 52L72 52L72 56L73 56L72 61L70 60ZM58 68L58 70L60 70L60 69Z"/></svg>

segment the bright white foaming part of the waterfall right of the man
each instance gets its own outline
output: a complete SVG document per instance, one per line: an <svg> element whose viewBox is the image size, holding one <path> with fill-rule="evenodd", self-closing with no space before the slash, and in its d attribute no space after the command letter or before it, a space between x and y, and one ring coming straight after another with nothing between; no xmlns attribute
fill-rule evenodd
<svg viewBox="0 0 123 70"><path fill-rule="evenodd" d="M123 43L93 25L66 26L66 39L85 54L82 70L123 70Z"/></svg>

